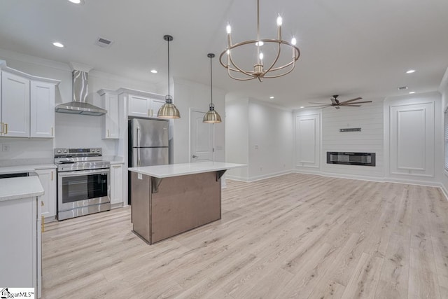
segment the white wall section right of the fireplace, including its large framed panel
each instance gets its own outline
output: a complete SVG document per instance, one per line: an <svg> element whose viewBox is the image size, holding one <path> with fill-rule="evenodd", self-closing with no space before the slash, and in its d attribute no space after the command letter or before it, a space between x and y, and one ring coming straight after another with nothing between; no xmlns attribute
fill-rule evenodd
<svg viewBox="0 0 448 299"><path fill-rule="evenodd" d="M442 98L439 92L427 92L402 97L388 97L384 102L384 132L385 148L388 153L385 159L385 176L388 181L403 181L409 183L423 183L439 185L441 179L440 165L442 161ZM396 124L397 113L400 111L423 111L421 116L421 130L415 130L415 134L404 130L400 131L400 125L406 125L406 120L399 120ZM436 112L437 111L437 112ZM416 120L417 121L417 120ZM424 127L423 127L424 126ZM431 127L432 132L428 131ZM426 130L425 130L426 129ZM410 158L408 153L416 153L415 148L399 148L398 139L406 138L407 142L419 147L421 157ZM419 142L420 140L420 142ZM406 140L405 140L406 141ZM411 145L409 145L411 146ZM413 161L412 159L415 159ZM418 162L418 163L417 163ZM417 164L416 164L417 163Z"/></svg>

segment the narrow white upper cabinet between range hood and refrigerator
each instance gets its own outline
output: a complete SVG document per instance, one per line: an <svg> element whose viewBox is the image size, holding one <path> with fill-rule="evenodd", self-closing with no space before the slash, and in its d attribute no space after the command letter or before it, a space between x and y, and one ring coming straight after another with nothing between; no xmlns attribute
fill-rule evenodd
<svg viewBox="0 0 448 299"><path fill-rule="evenodd" d="M104 109L107 113L103 116L103 139L120 138L120 103L118 95L112 90L98 90L102 97Z"/></svg>

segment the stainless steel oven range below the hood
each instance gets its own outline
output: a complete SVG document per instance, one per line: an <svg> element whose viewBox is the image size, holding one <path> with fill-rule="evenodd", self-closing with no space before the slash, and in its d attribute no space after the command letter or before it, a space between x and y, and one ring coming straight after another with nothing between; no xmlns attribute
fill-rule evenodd
<svg viewBox="0 0 448 299"><path fill-rule="evenodd" d="M56 148L57 218L111 209L110 162L101 148Z"/></svg>

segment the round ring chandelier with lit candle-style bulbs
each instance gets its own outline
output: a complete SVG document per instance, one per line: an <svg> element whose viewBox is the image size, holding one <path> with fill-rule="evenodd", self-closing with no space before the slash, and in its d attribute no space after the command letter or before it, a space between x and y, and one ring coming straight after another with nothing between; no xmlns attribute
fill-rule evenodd
<svg viewBox="0 0 448 299"><path fill-rule="evenodd" d="M232 27L227 25L226 30L228 46L223 53L221 53L219 62L221 62L221 65L227 69L230 78L239 81L247 81L256 78L258 81L262 82L263 78L278 78L293 71L295 68L295 62L299 59L300 50L297 46L295 46L295 43L297 42L295 37L293 37L291 42L283 41L281 39L282 22L281 16L279 15L277 18L277 39L260 39L260 0L257 0L257 39L232 44ZM242 50L242 48L244 48L243 46L251 43L255 44L257 49L257 62L253 65L253 71L244 70L243 67L237 65L232 57L234 50L237 48ZM269 62L272 61L272 63L270 65L268 64L269 67L265 69L264 63L266 60L264 54L262 53L261 47L267 45L274 45L274 48L276 48L276 55L274 59L269 60ZM287 49L289 48L290 51L292 50L293 56L290 62L277 66L276 63L279 62L282 46L285 46Z"/></svg>

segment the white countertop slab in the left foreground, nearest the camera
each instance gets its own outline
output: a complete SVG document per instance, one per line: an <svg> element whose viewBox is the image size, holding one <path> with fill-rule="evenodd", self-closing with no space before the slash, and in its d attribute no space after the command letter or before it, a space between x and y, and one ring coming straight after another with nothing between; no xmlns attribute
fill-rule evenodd
<svg viewBox="0 0 448 299"><path fill-rule="evenodd" d="M0 179L0 202L43 195L38 176Z"/></svg>

